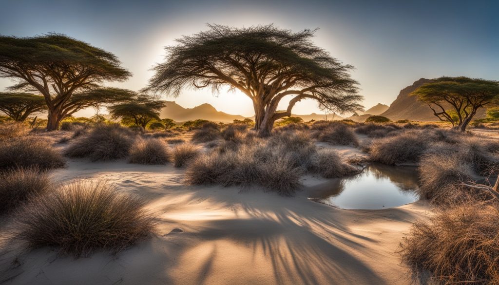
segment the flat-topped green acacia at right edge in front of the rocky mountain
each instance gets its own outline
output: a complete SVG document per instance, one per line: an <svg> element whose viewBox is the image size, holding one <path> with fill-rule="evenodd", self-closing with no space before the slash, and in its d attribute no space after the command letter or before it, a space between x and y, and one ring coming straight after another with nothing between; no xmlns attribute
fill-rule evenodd
<svg viewBox="0 0 499 285"><path fill-rule="evenodd" d="M464 76L440 77L420 86L412 95L428 103L441 121L449 121L464 132L480 108L499 102L499 82ZM446 110L449 105L453 112Z"/></svg>

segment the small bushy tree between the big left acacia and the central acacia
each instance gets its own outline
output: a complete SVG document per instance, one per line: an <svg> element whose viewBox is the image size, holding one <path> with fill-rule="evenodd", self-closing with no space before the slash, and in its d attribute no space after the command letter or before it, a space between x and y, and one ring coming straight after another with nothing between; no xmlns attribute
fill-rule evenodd
<svg viewBox="0 0 499 285"><path fill-rule="evenodd" d="M147 95L138 95L133 100L108 107L113 119L132 122L136 126L146 128L152 120L160 120L161 109L165 101L155 100Z"/></svg>

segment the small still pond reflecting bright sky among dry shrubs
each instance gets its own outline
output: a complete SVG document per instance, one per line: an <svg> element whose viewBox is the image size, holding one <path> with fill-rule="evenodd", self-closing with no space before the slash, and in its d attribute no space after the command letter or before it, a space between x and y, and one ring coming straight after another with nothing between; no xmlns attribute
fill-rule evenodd
<svg viewBox="0 0 499 285"><path fill-rule="evenodd" d="M313 200L342 209L386 209L415 202L416 167L371 164L360 174L312 189Z"/></svg>

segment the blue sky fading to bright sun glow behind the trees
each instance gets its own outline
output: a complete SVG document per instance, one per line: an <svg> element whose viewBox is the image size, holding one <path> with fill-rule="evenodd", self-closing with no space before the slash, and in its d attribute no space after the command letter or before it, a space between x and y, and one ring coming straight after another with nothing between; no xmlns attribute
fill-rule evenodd
<svg viewBox="0 0 499 285"><path fill-rule="evenodd" d="M163 46L206 29L274 23L298 31L316 28L314 41L352 64L366 108L390 104L415 80L442 75L499 79L499 0L452 1L160 1L0 0L0 33L65 33L116 54L133 77L109 83L138 90L163 60ZM0 79L0 89L10 85ZM252 115L241 93L185 90L166 97L185 107L204 102L227 113ZM293 113L320 112L312 101Z"/></svg>

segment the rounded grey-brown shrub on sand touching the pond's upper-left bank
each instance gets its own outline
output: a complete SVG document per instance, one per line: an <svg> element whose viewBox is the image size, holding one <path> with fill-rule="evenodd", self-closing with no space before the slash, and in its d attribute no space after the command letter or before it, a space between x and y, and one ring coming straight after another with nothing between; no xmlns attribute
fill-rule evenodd
<svg viewBox="0 0 499 285"><path fill-rule="evenodd" d="M319 149L312 158L310 170L324 178L336 178L358 172L357 168L343 162L333 149Z"/></svg>

